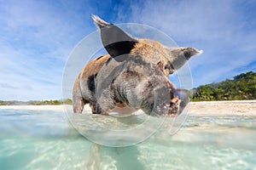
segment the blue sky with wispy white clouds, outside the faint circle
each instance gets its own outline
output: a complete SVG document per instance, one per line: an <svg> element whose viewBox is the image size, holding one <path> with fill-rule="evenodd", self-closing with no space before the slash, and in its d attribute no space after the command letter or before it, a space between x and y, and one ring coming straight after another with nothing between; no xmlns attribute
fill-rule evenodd
<svg viewBox="0 0 256 170"><path fill-rule="evenodd" d="M90 15L164 31L204 54L189 61L194 87L256 71L256 2L0 0L0 100L61 99L73 48L96 31Z"/></svg>

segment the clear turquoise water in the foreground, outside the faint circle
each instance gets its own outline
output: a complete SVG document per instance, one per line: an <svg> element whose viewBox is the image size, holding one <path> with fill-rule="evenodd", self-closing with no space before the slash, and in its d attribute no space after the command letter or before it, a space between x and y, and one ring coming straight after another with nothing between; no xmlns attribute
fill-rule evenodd
<svg viewBox="0 0 256 170"><path fill-rule="evenodd" d="M188 116L175 135L167 123L113 148L85 139L61 111L0 110L0 169L256 169L255 116Z"/></svg>

